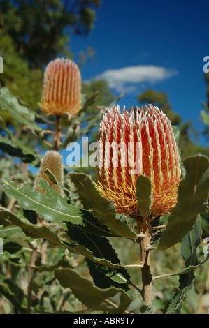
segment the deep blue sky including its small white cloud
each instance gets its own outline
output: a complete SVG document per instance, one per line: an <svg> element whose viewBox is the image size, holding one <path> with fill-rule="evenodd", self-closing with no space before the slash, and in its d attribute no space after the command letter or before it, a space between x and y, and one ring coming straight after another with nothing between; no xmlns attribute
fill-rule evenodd
<svg viewBox="0 0 209 328"><path fill-rule="evenodd" d="M96 50L82 66L82 79L106 78L116 96L124 92L119 103L127 109L148 88L165 91L182 120L203 129L208 7L206 0L103 0L89 36L71 36L75 61L88 46Z"/></svg>

